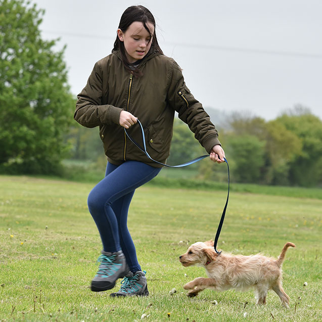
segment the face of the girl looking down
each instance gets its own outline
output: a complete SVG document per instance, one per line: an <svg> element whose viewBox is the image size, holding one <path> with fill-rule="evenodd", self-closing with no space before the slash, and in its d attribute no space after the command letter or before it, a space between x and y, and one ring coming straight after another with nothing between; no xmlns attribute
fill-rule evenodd
<svg viewBox="0 0 322 322"><path fill-rule="evenodd" d="M154 25L151 22L146 25L153 35ZM152 36L140 21L132 22L125 32L117 29L117 35L124 42L125 53L129 63L134 63L145 57L151 48Z"/></svg>

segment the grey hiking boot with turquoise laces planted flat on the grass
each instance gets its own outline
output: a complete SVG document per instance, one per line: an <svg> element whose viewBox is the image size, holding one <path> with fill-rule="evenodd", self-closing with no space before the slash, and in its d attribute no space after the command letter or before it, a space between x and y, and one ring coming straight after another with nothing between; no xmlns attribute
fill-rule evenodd
<svg viewBox="0 0 322 322"><path fill-rule="evenodd" d="M121 288L117 293L112 293L112 297L121 296L148 296L148 285L146 271L138 270L133 274L129 272L121 282Z"/></svg>

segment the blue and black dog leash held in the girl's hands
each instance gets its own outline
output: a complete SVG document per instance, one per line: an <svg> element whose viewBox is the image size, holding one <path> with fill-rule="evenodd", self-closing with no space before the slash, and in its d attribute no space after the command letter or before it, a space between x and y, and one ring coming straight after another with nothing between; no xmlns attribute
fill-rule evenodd
<svg viewBox="0 0 322 322"><path fill-rule="evenodd" d="M146 154L146 156L152 160L153 162L156 162L158 164L161 164L163 166L166 166L166 167L169 167L169 168L180 168L180 167L186 167L187 165L191 165L193 163L196 163L200 160L203 160L207 157L209 157L209 155L202 155L198 158L195 158L191 161L188 161L188 162L185 162L185 163L182 163L182 164L178 164L178 165L168 165L168 164L164 164L164 163L161 163L159 161L156 161L154 159L152 159L147 151L147 146L146 146L146 136L144 134L144 129L143 129L143 126L141 124L141 122L139 121L139 119L136 119L137 120L137 123L139 123L140 127L141 127L141 132L142 132L142 141L143 141L143 148L137 144L132 138L131 136L127 133L126 131L126 128L124 127L124 131L125 131L125 134L126 136L129 138L129 140L137 147L139 148L143 153ZM217 233L216 233L216 237L215 237L215 241L214 241L214 244L213 244L213 247L215 249L215 252L220 255L221 251L217 251L217 242L218 242L218 239L219 239L219 235L220 235L220 232L221 232L221 228L222 228L222 225L223 225L223 220L225 218L225 214L226 214L226 209L227 209L227 205L228 205L228 199L229 199L229 185L230 185L230 178L229 178L229 165L228 165L228 162L226 160L226 158L224 158L224 161L226 162L227 164L227 170L228 170L228 193L227 193L227 199L226 199L226 203L225 203L225 206L223 208L223 212L222 212L222 215L221 215L221 218L220 218L220 222L219 222L219 225L218 225L218 228L217 228Z"/></svg>

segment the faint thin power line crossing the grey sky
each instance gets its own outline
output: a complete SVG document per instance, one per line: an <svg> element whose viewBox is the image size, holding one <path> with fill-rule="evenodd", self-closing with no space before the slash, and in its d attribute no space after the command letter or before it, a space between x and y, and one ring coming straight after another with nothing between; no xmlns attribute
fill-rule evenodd
<svg viewBox="0 0 322 322"><path fill-rule="evenodd" d="M65 35L71 37L82 37L82 38L95 38L100 40L113 39L111 36L100 36L100 35L89 35L82 33L71 33L71 32L59 32L59 31L49 31L42 30L44 33L56 34L56 35ZM167 42L168 45L173 45L175 47L189 47L189 48L198 48L206 50L217 50L217 51L229 51L229 52L241 52L241 53L252 53L252 54L262 54L262 55L275 55L275 56L293 56L301 58L315 58L322 59L322 54L310 54L310 53L298 53L298 52L284 52L284 51L272 51L272 50L262 50L262 49L252 49L252 48L241 48L241 47L223 47L215 45L195 45L190 43L176 43L176 42Z"/></svg>

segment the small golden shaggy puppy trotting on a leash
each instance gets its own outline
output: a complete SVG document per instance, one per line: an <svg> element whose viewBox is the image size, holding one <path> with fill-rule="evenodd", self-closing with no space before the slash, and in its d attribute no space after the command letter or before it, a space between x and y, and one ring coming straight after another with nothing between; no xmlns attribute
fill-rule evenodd
<svg viewBox="0 0 322 322"><path fill-rule="evenodd" d="M289 296L282 287L282 263L292 243L286 243L278 259L268 258L260 254L243 256L220 253L213 247L213 241L198 242L188 248L187 253L179 256L183 266L198 265L206 269L208 279L196 278L183 288L189 290L188 296L197 296L204 289L226 291L236 289L246 291L254 287L257 304L266 303L268 290L273 290L282 304L289 306Z"/></svg>

